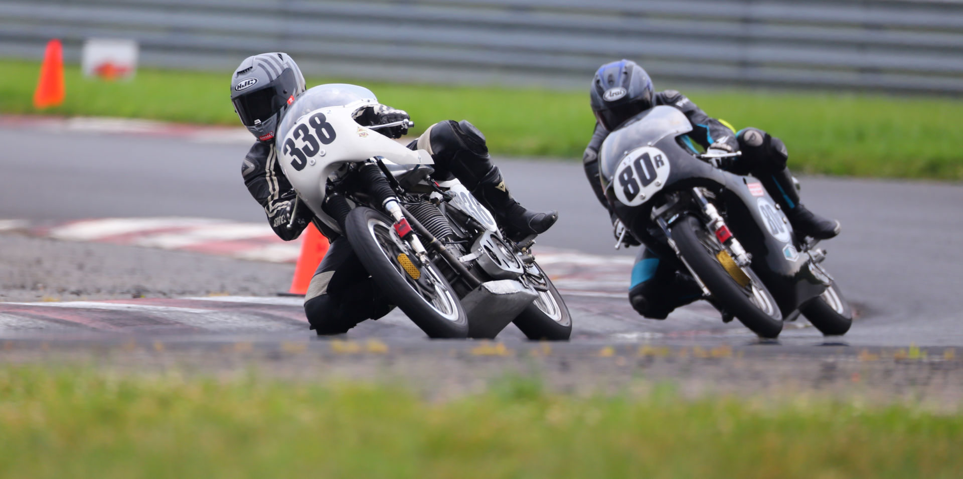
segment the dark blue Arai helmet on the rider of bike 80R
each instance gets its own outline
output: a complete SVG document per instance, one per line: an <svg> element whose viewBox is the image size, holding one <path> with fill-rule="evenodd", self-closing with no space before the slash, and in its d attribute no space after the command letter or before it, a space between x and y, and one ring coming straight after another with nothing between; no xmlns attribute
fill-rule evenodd
<svg viewBox="0 0 963 479"><path fill-rule="evenodd" d="M629 60L603 65L592 78L590 93L595 119L612 131L625 120L652 108L655 91L642 67Z"/></svg>

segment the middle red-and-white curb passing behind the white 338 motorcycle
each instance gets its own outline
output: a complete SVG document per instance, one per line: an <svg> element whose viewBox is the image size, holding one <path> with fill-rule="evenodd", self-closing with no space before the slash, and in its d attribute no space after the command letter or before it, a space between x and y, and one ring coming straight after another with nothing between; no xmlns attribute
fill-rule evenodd
<svg viewBox="0 0 963 479"><path fill-rule="evenodd" d="M0 220L0 231L13 229L63 241L218 254L275 263L294 263L300 254L300 240L281 240L267 223L185 217L104 218L31 227L21 221ZM633 264L631 256L603 256L551 248L538 248L535 253L538 264L566 294L626 297Z"/></svg>

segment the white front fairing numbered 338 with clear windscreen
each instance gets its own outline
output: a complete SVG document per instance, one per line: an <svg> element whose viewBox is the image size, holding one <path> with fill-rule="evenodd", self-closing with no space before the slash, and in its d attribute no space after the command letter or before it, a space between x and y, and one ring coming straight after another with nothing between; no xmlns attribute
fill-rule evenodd
<svg viewBox="0 0 963 479"><path fill-rule="evenodd" d="M355 85L326 84L302 93L289 107L274 141L281 170L299 198L325 225L342 232L323 208L327 179L345 163L380 157L387 165L433 165L428 151L412 151L354 120L365 107L376 106L370 90Z"/></svg>

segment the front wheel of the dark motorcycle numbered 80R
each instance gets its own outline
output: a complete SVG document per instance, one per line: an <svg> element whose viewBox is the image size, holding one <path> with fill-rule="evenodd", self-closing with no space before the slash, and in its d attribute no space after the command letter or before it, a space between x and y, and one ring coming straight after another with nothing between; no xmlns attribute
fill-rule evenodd
<svg viewBox="0 0 963 479"><path fill-rule="evenodd" d="M669 234L720 306L761 337L776 337L782 332L782 312L766 286L751 269L736 265L716 235L698 219L680 218L669 228Z"/></svg>

